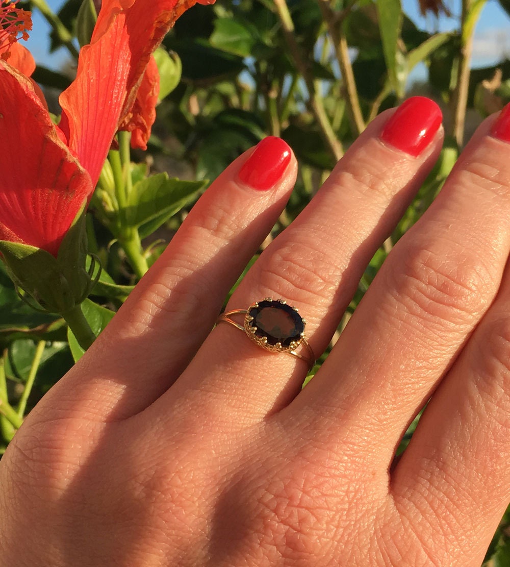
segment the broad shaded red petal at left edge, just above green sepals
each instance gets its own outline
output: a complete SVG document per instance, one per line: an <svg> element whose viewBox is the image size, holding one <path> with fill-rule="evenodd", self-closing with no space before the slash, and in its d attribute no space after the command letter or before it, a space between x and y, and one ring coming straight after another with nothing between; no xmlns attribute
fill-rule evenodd
<svg viewBox="0 0 510 567"><path fill-rule="evenodd" d="M0 61L0 239L54 256L92 184L61 142L31 79Z"/></svg>

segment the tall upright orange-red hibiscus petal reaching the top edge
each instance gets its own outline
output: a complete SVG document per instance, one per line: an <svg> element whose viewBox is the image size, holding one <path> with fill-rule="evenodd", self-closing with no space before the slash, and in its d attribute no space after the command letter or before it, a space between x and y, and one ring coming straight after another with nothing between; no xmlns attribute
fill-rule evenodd
<svg viewBox="0 0 510 567"><path fill-rule="evenodd" d="M75 81L60 96L61 129L96 183L118 125L133 106L149 58L197 0L103 0Z"/></svg>

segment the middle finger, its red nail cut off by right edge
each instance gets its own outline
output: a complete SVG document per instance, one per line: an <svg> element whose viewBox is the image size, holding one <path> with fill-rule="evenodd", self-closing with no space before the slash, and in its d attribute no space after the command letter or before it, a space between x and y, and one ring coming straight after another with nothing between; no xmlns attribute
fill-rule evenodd
<svg viewBox="0 0 510 567"><path fill-rule="evenodd" d="M373 444L384 467L499 287L510 248L510 163L508 146L490 135L493 122L394 247L320 380L295 403L307 416L315 409L312 430L333 420L333 434L349 429L350 442Z"/></svg>

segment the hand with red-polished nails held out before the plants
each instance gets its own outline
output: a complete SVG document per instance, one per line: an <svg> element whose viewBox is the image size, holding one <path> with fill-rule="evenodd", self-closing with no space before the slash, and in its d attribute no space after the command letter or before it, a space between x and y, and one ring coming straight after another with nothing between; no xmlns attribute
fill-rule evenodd
<svg viewBox="0 0 510 567"><path fill-rule="evenodd" d="M509 115L483 122L303 391L305 361L213 329L296 176L276 138L233 162L16 433L1 564L479 566L510 500ZM320 355L439 123L422 98L377 117L227 310L284 298Z"/></svg>

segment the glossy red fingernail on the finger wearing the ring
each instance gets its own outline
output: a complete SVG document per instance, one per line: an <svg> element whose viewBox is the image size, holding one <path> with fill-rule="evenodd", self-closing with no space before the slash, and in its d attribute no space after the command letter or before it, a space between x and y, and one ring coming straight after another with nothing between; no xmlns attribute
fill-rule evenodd
<svg viewBox="0 0 510 567"><path fill-rule="evenodd" d="M413 96L403 102L386 122L383 142L417 157L436 135L443 114L437 104L425 96Z"/></svg>

